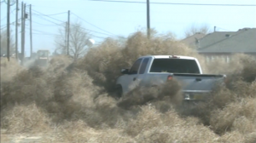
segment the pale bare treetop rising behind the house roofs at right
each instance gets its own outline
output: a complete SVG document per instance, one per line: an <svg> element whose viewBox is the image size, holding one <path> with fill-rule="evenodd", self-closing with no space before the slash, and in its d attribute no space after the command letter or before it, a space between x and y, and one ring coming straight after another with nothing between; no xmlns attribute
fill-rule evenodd
<svg viewBox="0 0 256 143"><path fill-rule="evenodd" d="M191 26L188 26L188 28L184 31L184 34L185 37L190 37L199 32L207 35L208 33L212 32L212 30L207 24L192 24Z"/></svg>

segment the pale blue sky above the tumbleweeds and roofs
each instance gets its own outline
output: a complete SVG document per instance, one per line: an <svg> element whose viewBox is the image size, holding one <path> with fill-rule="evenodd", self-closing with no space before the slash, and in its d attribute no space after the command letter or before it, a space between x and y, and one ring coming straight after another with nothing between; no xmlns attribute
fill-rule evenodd
<svg viewBox="0 0 256 143"><path fill-rule="evenodd" d="M19 1L19 3L22 2L21 0ZM146 2L146 0L124 1ZM109 35L127 37L137 29L147 27L145 3L110 3L89 0L23 0L23 2L27 5L27 12L29 12L28 5L32 4L34 52L38 49L54 51L55 35L59 34L60 25L67 21L68 10L71 11L71 22L81 22L84 28L90 31L91 37L96 40L96 43L102 41L102 38L99 37L108 37ZM256 4L255 0L150 0L150 2ZM14 22L15 6L12 6L10 11L10 22ZM6 3L2 3L2 31L6 26L6 12ZM184 29L194 23L208 24L212 27L212 30L214 26L217 26L218 31L237 31L244 27L256 27L255 6L193 6L152 3L150 5L150 15L151 28L161 33L172 31L179 38L183 37ZM12 25L11 29L14 31L12 34L15 36L15 25ZM26 56L30 55L28 31L29 20L26 20Z"/></svg>

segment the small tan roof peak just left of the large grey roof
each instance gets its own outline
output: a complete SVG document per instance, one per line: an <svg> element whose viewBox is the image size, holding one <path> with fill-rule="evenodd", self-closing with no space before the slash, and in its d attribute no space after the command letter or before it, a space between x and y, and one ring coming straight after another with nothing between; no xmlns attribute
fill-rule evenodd
<svg viewBox="0 0 256 143"><path fill-rule="evenodd" d="M181 40L182 43L185 43L186 45L188 45L190 48L195 49L196 48L196 40L197 39L201 39L202 37L205 37L206 34L203 34L201 32L197 32L194 35L190 36L190 37L186 37L183 40Z"/></svg>

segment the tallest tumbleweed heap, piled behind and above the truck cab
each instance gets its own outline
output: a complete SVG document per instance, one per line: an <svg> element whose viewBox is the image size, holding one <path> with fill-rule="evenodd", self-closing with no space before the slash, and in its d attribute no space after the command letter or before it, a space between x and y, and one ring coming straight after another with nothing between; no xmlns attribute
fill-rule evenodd
<svg viewBox="0 0 256 143"><path fill-rule="evenodd" d="M139 56L148 54L181 54L195 56L201 59L193 49L172 38L152 37L141 31L132 34L125 45L108 39L99 47L90 49L76 67L88 71L96 85L103 86L107 91L113 91L114 82L120 76L121 68L129 68ZM201 62L204 65L204 62Z"/></svg>

